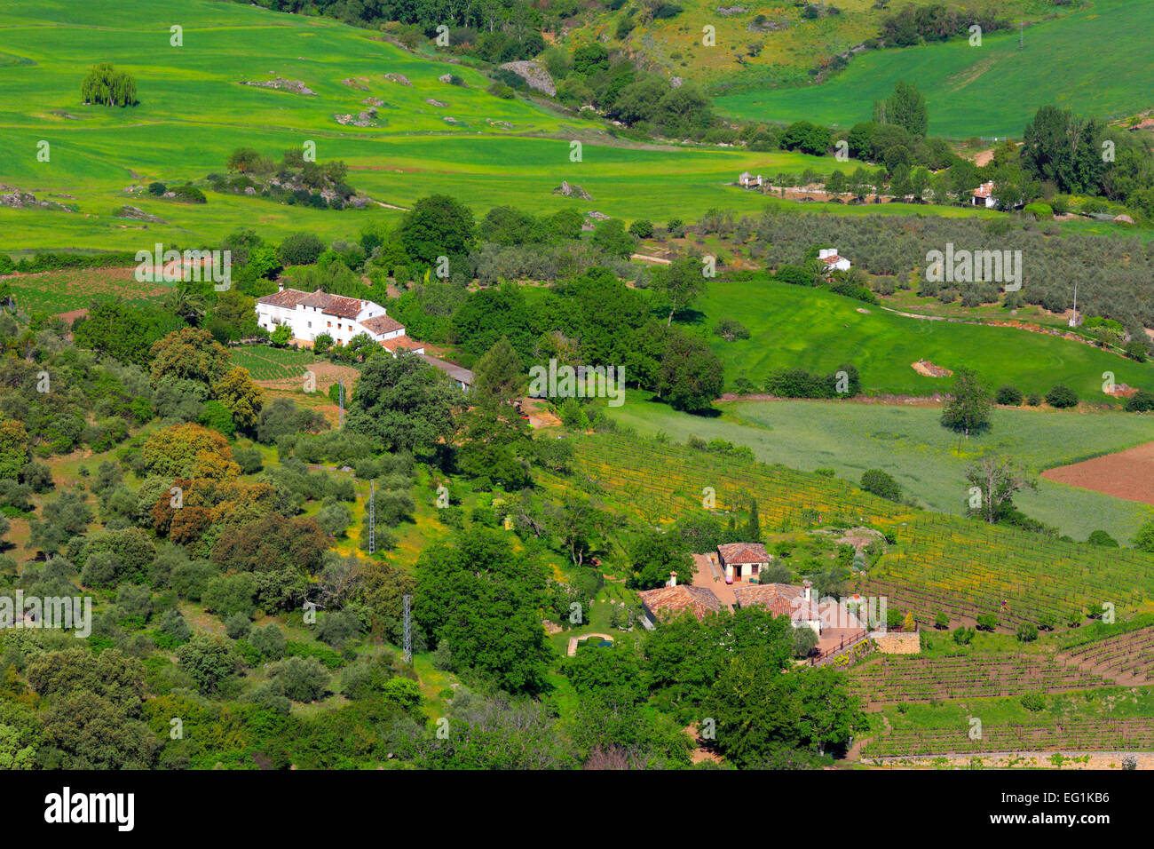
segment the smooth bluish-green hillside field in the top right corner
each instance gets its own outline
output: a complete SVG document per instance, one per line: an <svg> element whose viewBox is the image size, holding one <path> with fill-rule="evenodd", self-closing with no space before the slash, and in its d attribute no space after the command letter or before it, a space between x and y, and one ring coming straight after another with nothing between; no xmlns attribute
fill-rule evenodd
<svg viewBox="0 0 1154 849"><path fill-rule="evenodd" d="M1141 32L1147 37L1139 37ZM870 120L874 100L906 80L926 95L931 134L1020 137L1037 107L1051 103L1110 118L1154 105L1148 85L1154 74L1151 32L1154 3L1095 0L1027 28L1020 50L1019 33L1004 31L986 35L981 47L959 38L867 51L819 85L749 89L719 97L717 104L737 118L805 119L848 128Z"/></svg>

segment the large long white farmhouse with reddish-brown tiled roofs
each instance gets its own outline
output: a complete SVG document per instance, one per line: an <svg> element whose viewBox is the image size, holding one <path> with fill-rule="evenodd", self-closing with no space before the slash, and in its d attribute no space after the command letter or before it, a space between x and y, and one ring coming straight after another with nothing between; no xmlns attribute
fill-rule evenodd
<svg viewBox="0 0 1154 849"><path fill-rule="evenodd" d="M394 352L398 348L425 352L424 345L410 340L405 326L389 318L380 304L329 295L320 289L301 292L280 286L273 295L258 298L256 323L269 333L287 325L297 342L312 343L317 336L328 334L335 343L344 345L364 333Z"/></svg>

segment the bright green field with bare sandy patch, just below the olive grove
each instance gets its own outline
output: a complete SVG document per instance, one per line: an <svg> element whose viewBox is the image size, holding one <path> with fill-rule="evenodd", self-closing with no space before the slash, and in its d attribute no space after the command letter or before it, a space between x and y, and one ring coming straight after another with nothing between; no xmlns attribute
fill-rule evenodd
<svg viewBox="0 0 1154 849"><path fill-rule="evenodd" d="M928 359L951 371L972 368L994 387L1009 383L1026 393L1044 395L1064 383L1091 403L1110 401L1102 393L1107 371L1116 382L1154 389L1154 365L1087 344L1011 327L911 319L764 277L711 281L695 307L706 332L722 318L736 319L750 332L750 338L735 342L709 334L725 362L727 387L739 378L760 387L779 368L832 372L852 363L870 395L924 396L949 389L950 378L913 370L913 363Z"/></svg>

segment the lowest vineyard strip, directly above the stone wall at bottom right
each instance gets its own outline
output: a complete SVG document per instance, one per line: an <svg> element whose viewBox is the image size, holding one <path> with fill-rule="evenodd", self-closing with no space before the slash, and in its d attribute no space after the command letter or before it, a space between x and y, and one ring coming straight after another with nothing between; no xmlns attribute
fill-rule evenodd
<svg viewBox="0 0 1154 849"><path fill-rule="evenodd" d="M1029 725L986 725L979 739L971 728L891 731L869 740L864 758L982 752L1125 752L1154 749L1154 718L1064 720Z"/></svg>

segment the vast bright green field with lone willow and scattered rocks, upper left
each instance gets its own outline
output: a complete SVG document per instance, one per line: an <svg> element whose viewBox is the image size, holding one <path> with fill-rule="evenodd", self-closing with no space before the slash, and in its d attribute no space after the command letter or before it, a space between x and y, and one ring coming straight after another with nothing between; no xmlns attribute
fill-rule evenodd
<svg viewBox="0 0 1154 849"><path fill-rule="evenodd" d="M5 15L0 54L20 61L0 64L0 183L77 213L0 209L0 250L137 248L156 240L187 246L239 226L260 228L271 239L301 229L336 238L355 234L369 216L399 214L305 209L212 192L205 204L186 204L125 192L223 172L238 147L279 158L313 141L319 162L345 161L350 185L398 207L447 192L479 214L516 203L535 213L572 206L654 221L781 202L727 185L743 170L829 172L835 164L789 152L628 143L600 124L489 95L488 80L472 68L429 61L323 18L207 0L93 0L82 7L17 0ZM183 27L183 46L170 46L172 24ZM136 77L140 105L81 103L81 79L99 61ZM437 81L449 72L466 87ZM388 73L412 85L387 80ZM316 94L240 84L273 75L300 80ZM336 121L336 114L365 110L368 97L387 104L379 126ZM584 146L579 162L570 159L572 140ZM37 158L42 141L50 146L48 162ZM593 200L553 195L562 180ZM164 223L114 217L125 203Z"/></svg>

